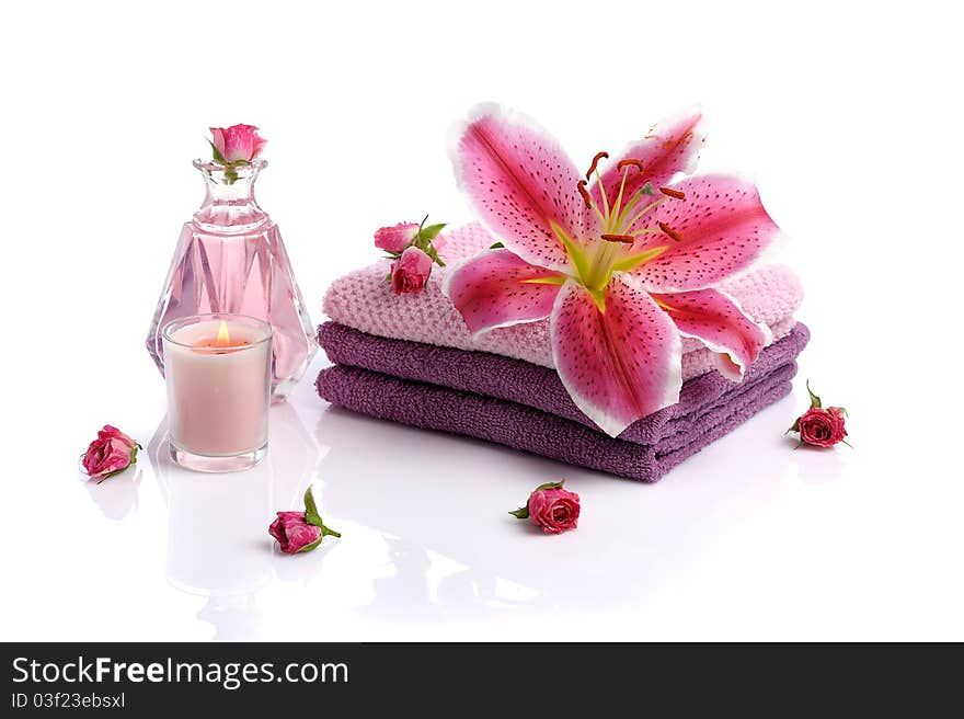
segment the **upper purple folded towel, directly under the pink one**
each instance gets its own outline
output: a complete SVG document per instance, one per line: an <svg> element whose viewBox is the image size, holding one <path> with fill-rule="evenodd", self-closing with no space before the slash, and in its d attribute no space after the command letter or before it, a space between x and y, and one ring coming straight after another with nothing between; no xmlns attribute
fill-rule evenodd
<svg viewBox="0 0 964 719"><path fill-rule="evenodd" d="M524 404L596 430L573 403L559 375L547 367L487 352L380 338L335 322L322 324L318 339L329 358L338 365ZM742 384L734 384L718 372L690 379L684 384L678 403L639 420L620 440L656 445L661 450L685 446L695 432L713 420L712 415L703 418L704 412L736 401L743 390L762 378L777 377L778 370L790 365L808 340L810 330L797 322L789 335L760 353ZM784 379L792 376L791 372Z"/></svg>

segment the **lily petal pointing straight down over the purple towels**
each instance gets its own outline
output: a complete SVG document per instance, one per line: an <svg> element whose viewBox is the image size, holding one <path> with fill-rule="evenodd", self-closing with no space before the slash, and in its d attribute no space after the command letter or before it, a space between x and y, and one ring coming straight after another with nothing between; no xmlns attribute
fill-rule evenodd
<svg viewBox="0 0 964 719"><path fill-rule="evenodd" d="M562 286L550 319L552 356L578 407L610 436L679 401L682 341L631 276L612 275L600 303L574 281Z"/></svg>

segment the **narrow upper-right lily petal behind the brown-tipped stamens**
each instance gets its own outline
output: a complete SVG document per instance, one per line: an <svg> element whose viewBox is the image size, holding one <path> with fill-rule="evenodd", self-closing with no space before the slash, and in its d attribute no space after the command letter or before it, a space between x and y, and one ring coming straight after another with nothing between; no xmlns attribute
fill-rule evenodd
<svg viewBox="0 0 964 719"><path fill-rule="evenodd" d="M667 117L653 126L646 137L638 142L632 142L623 150L622 155L609 163L609 168L602 173L602 186L611 203L619 195L622 183L622 171L619 170L621 160L640 160L643 163L642 173L630 170L623 189L623 206L647 182L654 187L668 184L677 172L691 174L696 170L700 149L705 141L705 133L702 124L702 113L699 107L691 107L679 115ZM593 199L599 205L601 196L599 184L593 185ZM643 206L643 205L641 205Z"/></svg>

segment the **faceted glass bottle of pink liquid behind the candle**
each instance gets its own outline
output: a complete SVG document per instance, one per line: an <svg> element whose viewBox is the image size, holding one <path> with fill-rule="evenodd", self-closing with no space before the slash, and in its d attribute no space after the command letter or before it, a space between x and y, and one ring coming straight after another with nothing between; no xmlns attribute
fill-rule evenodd
<svg viewBox="0 0 964 719"><path fill-rule="evenodd" d="M161 332L191 315L249 315L274 329L272 397L287 397L318 351L305 300L277 225L254 199L254 181L267 167L226 169L195 160L205 179L204 204L184 225L147 336L161 374Z"/></svg>

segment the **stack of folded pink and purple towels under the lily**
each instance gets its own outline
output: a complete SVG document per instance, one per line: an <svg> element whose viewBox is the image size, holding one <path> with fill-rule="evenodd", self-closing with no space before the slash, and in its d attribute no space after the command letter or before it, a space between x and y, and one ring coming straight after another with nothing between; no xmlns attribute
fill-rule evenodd
<svg viewBox="0 0 964 719"><path fill-rule="evenodd" d="M434 267L420 293L393 294L387 262L335 281L324 298L331 321L318 334L334 366L318 376L319 395L379 419L654 482L790 392L796 356L810 339L806 327L793 319L803 293L791 270L767 265L721 285L773 334L744 380L724 378L709 350L684 339L679 402L617 438L608 436L576 408L559 379L548 320L473 338L441 293L452 264L494 241L480 225L446 235L439 254L447 266Z"/></svg>

